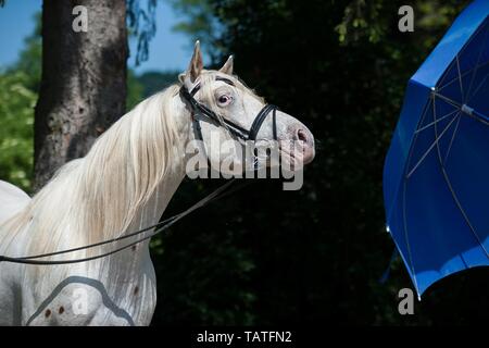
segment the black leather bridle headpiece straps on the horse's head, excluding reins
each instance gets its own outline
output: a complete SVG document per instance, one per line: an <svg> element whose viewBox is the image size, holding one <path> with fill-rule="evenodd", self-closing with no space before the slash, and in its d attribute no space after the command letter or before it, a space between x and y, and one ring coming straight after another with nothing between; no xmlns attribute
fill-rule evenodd
<svg viewBox="0 0 489 348"><path fill-rule="evenodd" d="M235 84L224 77L216 77L216 80L222 80L230 86L235 86ZM272 129L273 129L273 137L274 140L277 140L277 110L278 108L273 104L265 104L262 110L256 114L254 117L253 123L251 124L251 127L249 130L244 129L240 125L224 119L220 117L214 111L202 104L201 102L197 101L195 98L195 95L200 90L200 83L197 84L190 91L183 85L180 87L180 96L184 98L185 101L189 104L192 113L192 123L193 123L193 129L196 132L197 138L201 141L203 141L202 137L202 128L200 126L200 122L209 122L211 124L214 124L218 127L224 127L235 137L236 139L241 140L251 140L256 142L256 136L260 132L260 128L262 127L263 122L265 119L272 113Z"/></svg>

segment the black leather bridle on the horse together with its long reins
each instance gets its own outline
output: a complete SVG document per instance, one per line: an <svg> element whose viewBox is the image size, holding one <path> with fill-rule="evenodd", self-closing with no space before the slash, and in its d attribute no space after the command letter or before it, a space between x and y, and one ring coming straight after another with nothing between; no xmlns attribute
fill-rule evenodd
<svg viewBox="0 0 489 348"><path fill-rule="evenodd" d="M224 77L217 76L216 80L222 80L230 86L235 86L235 84L230 79L227 79ZM195 129L197 138L199 140L201 140L203 142L202 128L200 126L200 122L204 121L204 122L212 123L218 127L226 128L231 134L231 136L235 137L236 139L243 140L243 141L251 140L251 141L256 142L256 136L260 132L260 128L263 125L263 122L265 121L265 119L271 113L272 113L272 122L273 122L273 138L274 138L274 140L277 140L277 116L276 116L276 112L278 110L277 107L275 107L273 104L265 104L256 114L253 123L251 124L250 129L247 130L243 127L239 126L238 124L236 124L229 120L220 117L211 109L209 109L204 104L197 101L195 98L195 95L199 91L200 88L201 88L200 83L198 83L191 89L191 91L188 91L187 88L185 87L185 85L183 85L179 90L181 98L184 98L184 100L190 105L193 129ZM254 154L254 156L256 157L256 154ZM208 160L209 160L209 157L208 157ZM254 161L254 163L256 164L256 161ZM256 170L256 166L255 166L255 170ZM65 249L65 250L60 250L60 251L54 251L54 252L48 252L48 253L41 253L41 254L35 254L35 256L28 256L28 257L13 258L13 257L0 256L0 262L37 264L37 265L57 265L57 264L72 264L72 263L87 262L87 261L109 257L111 254L114 254L122 250L128 249L137 244L140 244L145 240L150 239L151 237L155 236L156 234L167 229L174 223L176 223L180 219L185 217L189 213L193 212L195 210L206 206L209 202L211 202L213 200L220 199L224 196L231 194L230 190L228 190L227 192L226 192L226 190L230 187L230 185L234 182L235 182L235 179L228 181L223 186L218 187L216 190L211 192L209 196L206 196L202 200L198 201L196 204L191 206L186 211L184 211L179 214L176 214L172 217L168 217L164 221L161 221L154 225L145 227L142 229L138 229L133 233L122 235L121 237L95 243L95 244L83 246L83 247L76 247L76 248L71 248L71 249ZM240 187L242 187L242 185ZM239 189L240 187L235 188L233 191ZM43 259L43 258L48 258L48 257L66 254L66 253L76 252L76 251L80 251L80 250L87 250L87 249L104 246L108 244L113 244L113 243L124 240L124 239L127 239L130 237L137 237L141 234L146 234L147 232L150 232L153 228L154 228L154 231L152 231L149 235L142 235L140 238L138 238L135 241L131 241L122 247L115 248L111 251L100 253L97 256L80 258L80 259L72 259L72 260L50 260L50 261L39 260L39 259Z"/></svg>

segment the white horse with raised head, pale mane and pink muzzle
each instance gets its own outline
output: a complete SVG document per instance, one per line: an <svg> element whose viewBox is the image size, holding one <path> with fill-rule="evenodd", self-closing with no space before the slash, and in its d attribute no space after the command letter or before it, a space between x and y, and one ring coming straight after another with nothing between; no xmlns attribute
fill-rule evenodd
<svg viewBox="0 0 489 348"><path fill-rule="evenodd" d="M231 57L220 71L203 70L197 42L178 84L121 117L85 158L62 166L34 198L0 182L0 256L53 252L155 224L186 174L186 148L196 136L192 113L178 91L181 85L191 90L197 84L199 102L246 129L264 105L233 75ZM210 147L210 134L218 133L223 140L231 135L226 127L201 125L206 156L218 165L223 153ZM289 161L313 159L314 138L302 123L277 112L275 126L279 144L300 140L300 150L287 153ZM269 139L272 133L272 121L265 120L258 137ZM79 250L48 260L108 250ZM0 262L0 325L148 325L156 303L155 286L148 240L89 262Z"/></svg>

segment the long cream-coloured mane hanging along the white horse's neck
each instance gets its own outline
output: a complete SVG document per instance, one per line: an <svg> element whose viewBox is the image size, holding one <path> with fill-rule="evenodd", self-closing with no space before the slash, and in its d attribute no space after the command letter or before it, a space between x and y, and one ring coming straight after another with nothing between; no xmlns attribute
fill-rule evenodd
<svg viewBox="0 0 489 348"><path fill-rule="evenodd" d="M172 101L178 88L173 85L140 102L86 157L63 165L22 212L0 225L10 235L0 243L11 243L27 227L27 250L36 254L123 234L163 177L177 170L173 158L181 141Z"/></svg>

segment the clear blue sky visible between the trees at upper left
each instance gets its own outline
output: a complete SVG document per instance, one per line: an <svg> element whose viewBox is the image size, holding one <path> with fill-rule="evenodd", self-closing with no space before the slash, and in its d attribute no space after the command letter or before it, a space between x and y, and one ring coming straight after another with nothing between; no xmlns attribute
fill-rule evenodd
<svg viewBox="0 0 489 348"><path fill-rule="evenodd" d="M24 38L33 33L33 16L41 10L41 4L42 0L7 0L5 5L0 8L0 69L16 61ZM158 1L156 35L150 42L149 60L141 63L136 72L185 70L193 40L172 30L178 20L166 1ZM136 42L129 42L129 47L135 52ZM128 64L135 67L134 54Z"/></svg>

